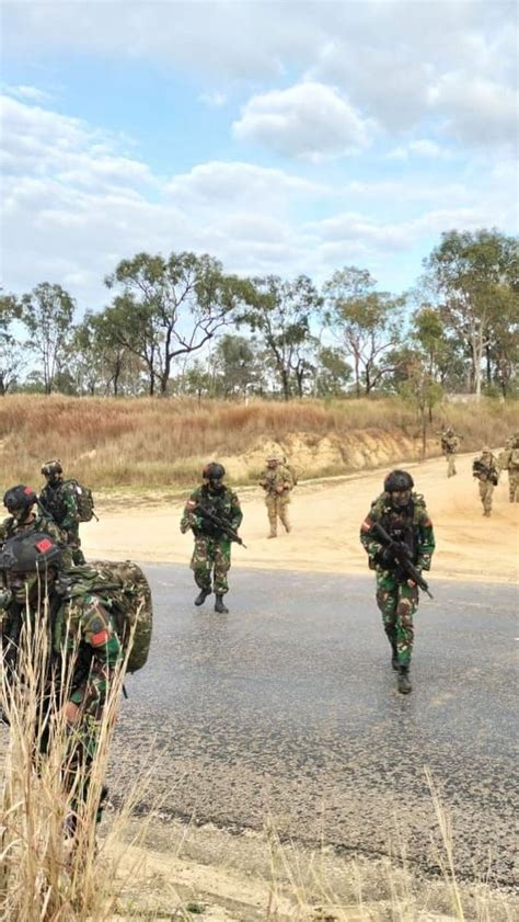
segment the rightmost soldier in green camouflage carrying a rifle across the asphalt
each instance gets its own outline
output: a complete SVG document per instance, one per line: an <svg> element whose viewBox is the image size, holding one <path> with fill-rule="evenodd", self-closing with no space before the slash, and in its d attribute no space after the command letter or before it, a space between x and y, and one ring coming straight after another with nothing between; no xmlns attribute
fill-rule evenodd
<svg viewBox="0 0 519 922"><path fill-rule="evenodd" d="M413 492L413 478L406 470L392 470L384 480L383 493L372 503L360 528L369 567L376 571L377 604L391 644L391 665L399 673L397 688L403 695L412 691L410 663L418 587L407 578L394 549L385 547L372 530L374 523L380 523L399 549L405 545L406 556L419 572L430 569L435 550L432 523L424 497Z"/></svg>

